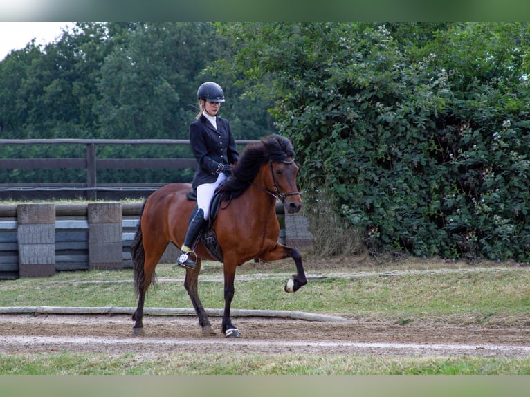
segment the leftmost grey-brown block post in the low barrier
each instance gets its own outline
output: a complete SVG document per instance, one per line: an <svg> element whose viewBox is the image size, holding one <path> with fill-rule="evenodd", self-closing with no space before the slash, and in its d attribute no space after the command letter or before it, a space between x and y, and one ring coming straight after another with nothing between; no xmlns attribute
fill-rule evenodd
<svg viewBox="0 0 530 397"><path fill-rule="evenodd" d="M55 275L55 204L17 205L19 277Z"/></svg>

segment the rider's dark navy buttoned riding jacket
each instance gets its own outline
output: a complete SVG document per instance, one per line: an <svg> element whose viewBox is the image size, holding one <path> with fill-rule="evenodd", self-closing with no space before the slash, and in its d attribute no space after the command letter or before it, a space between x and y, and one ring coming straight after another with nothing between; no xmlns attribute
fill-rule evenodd
<svg viewBox="0 0 530 397"><path fill-rule="evenodd" d="M219 165L235 164L239 158L235 140L226 118L217 117L217 130L201 115L190 124L190 145L197 159L192 187L217 181Z"/></svg>

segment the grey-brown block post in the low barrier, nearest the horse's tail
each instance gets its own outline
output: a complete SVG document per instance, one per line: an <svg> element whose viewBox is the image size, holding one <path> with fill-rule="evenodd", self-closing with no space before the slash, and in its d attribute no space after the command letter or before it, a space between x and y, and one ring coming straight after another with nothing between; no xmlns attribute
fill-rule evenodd
<svg viewBox="0 0 530 397"><path fill-rule="evenodd" d="M121 203L89 203L89 268L122 269Z"/></svg>

